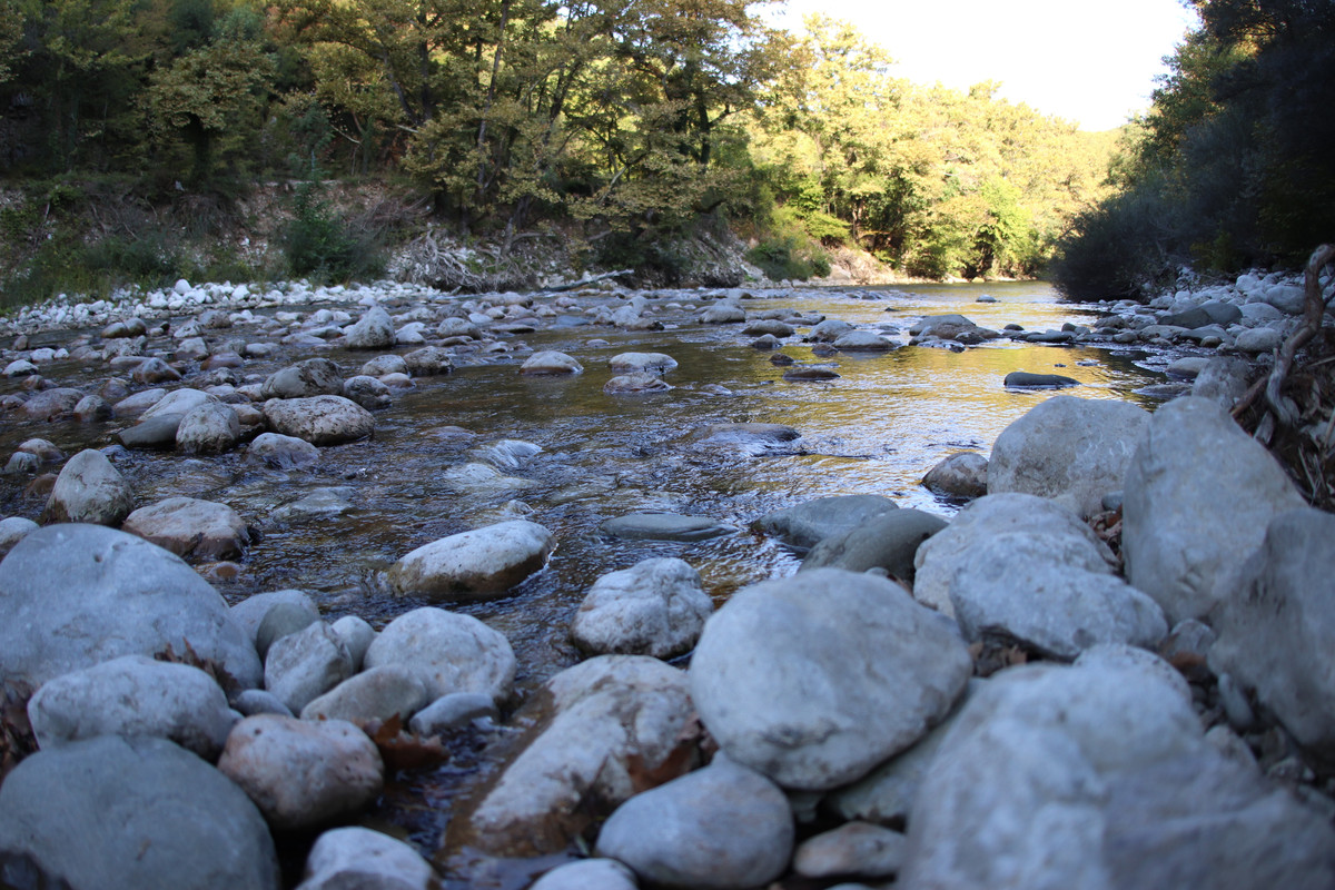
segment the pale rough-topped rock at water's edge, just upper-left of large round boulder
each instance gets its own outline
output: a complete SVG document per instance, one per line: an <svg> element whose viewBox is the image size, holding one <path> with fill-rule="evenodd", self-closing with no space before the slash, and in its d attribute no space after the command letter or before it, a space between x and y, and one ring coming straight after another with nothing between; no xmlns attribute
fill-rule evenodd
<svg viewBox="0 0 1335 890"><path fill-rule="evenodd" d="M594 582L570 638L595 655L672 658L696 644L714 603L700 572L676 558L645 559Z"/></svg>

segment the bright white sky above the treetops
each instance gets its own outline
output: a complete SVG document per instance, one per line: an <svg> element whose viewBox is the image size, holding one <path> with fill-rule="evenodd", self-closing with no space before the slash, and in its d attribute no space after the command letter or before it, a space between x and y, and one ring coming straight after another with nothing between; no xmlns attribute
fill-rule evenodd
<svg viewBox="0 0 1335 890"><path fill-rule="evenodd" d="M786 0L777 24L822 12L857 25L897 63L897 76L1000 96L1083 129L1111 129L1149 107L1196 13L1179 0ZM773 13L772 13L773 15Z"/></svg>

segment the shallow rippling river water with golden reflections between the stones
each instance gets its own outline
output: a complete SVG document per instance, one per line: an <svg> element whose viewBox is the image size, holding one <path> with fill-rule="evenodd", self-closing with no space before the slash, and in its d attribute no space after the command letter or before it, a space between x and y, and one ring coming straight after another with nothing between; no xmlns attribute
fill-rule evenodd
<svg viewBox="0 0 1335 890"><path fill-rule="evenodd" d="M981 294L997 302L977 303ZM578 300L581 308L617 302L613 296ZM673 300L700 302L674 292L653 306L657 310ZM1007 323L1044 330L1095 318L1093 307L1060 303L1041 283L805 290L742 306L749 312L782 308L861 327L898 328L888 334L897 342L908 340L908 327L920 316L944 312L964 314L995 330ZM350 311L355 315L356 308ZM1155 370L1161 362L1140 351L1001 339L964 352L909 347L817 356L798 338L790 338L782 351L800 364L828 367L840 376L786 382L785 368L770 363L773 352L752 348L753 338L742 336L741 326L698 324L688 311L659 311L659 318L677 327L627 332L577 326L571 315L565 323L507 340L569 352L585 367L575 376L521 376L518 364L526 355L521 350L461 355L453 374L417 380L415 390L378 412L374 439L323 450L314 472L258 470L239 452L204 459L128 452L116 464L134 486L139 506L174 495L219 500L258 528L259 539L239 560L240 572L214 580L228 600L298 587L331 620L356 614L383 626L422 604L391 598L379 580L383 568L421 544L501 519L542 523L558 540L545 571L502 599L451 606L506 634L519 659L522 699L578 660L566 628L587 587L602 574L647 556L681 556L701 571L706 590L721 604L740 586L790 574L800 562L786 547L746 531L764 512L844 494L881 494L901 506L955 512L956 506L921 487L922 475L955 451L987 454L1007 424L1052 395L1008 391L1003 378L1011 371L1059 372L1083 383L1068 391L1072 395L1149 408L1155 402L1136 390L1163 382ZM606 344L590 346L594 339ZM626 351L672 355L680 363L666 375L674 388L647 396L605 394L603 383L611 376L607 359ZM318 354L334 359L348 376L375 355ZM244 371L267 374L310 355L284 352ZM88 391L107 376L105 366L93 372L65 364L71 367L43 371ZM11 392L17 384L3 387ZM733 422L781 423L802 435L772 448L705 442L696 435L710 423ZM111 443L119 426L69 422L33 428L5 422L0 448L8 455L23 439L39 435L73 454ZM542 451L503 470L489 486L457 478L459 467L479 458L497 463L487 448L511 439ZM342 496L348 506L342 512L284 512L284 504L330 487L346 490ZM0 515L36 518L43 502L24 495L13 479L0 480ZM605 519L641 511L708 515L738 532L673 543L615 540L598 531ZM486 771L493 755L478 751L483 742L478 739L473 754L451 767L406 777L391 789L379 817L399 823L430 849L446 821L449 799Z"/></svg>

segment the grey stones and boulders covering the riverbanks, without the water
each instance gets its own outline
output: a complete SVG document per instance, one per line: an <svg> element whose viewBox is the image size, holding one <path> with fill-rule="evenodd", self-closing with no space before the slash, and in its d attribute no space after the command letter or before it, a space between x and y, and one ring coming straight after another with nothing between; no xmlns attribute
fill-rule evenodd
<svg viewBox="0 0 1335 890"><path fill-rule="evenodd" d="M7 422L120 430L68 459L35 436L5 466L47 499L37 516L0 520L0 693L25 705L37 749L0 785L0 882L276 887L275 838L318 835L308 890L482 881L501 861L525 875L514 886L541 890L1335 886L1335 518L1307 507L1227 412L1251 374L1235 354L1259 352L1258 331L1287 332L1300 310L1290 288L1243 276L1160 298L1156 314L1107 307L1091 328L1048 332L957 315L856 328L754 310L766 292L744 291L182 282L25 310L5 322ZM319 303L331 306L308 311ZM933 470L929 486L968 500L949 522L874 494L756 518L756 534L805 559L721 608L682 559L603 575L570 627L585 660L518 714L510 642L450 606L541 571L559 542L539 523L403 554L384 582L425 604L376 630L328 622L296 590L228 607L186 560L240 558L246 523L192 498L135 508L116 467L139 448L244 448L300 467L371 435L396 392L459 363L578 374L574 358L517 338L590 323L732 324L761 350L808 328L836 351L1012 336L1226 355L1196 356L1189 394L1153 415L1040 403L991 460ZM308 355L331 346L375 355L344 378ZM247 372L278 356L291 363ZM99 362L111 376L96 392L45 376ZM673 366L622 354L606 386L662 391ZM527 448L502 450L518 464ZM730 530L642 514L603 531ZM395 745L506 721L527 727L522 743L453 814L443 853L355 825ZM531 869L515 871L523 859Z"/></svg>

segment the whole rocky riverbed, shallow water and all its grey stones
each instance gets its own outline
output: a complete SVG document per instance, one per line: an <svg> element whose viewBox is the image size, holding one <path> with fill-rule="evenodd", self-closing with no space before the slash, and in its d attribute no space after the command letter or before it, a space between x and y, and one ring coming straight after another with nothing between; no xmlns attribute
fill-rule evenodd
<svg viewBox="0 0 1335 890"><path fill-rule="evenodd" d="M1302 303L1183 284L8 319L0 879L1335 885Z"/></svg>

